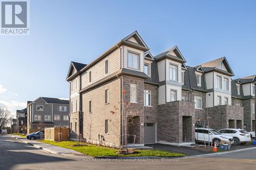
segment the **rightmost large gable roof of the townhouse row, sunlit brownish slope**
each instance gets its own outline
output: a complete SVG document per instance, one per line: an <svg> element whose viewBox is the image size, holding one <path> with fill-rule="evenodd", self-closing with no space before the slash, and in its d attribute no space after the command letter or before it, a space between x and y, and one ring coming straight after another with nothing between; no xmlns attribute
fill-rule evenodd
<svg viewBox="0 0 256 170"><path fill-rule="evenodd" d="M217 68L219 66L219 64L221 64L222 62L225 65L227 71ZM210 71L216 70L216 71L221 71L223 73L227 73L230 76L234 76L233 71L227 62L226 57L221 57L216 60L208 61L208 62L200 64L200 65L202 66L204 72L210 72Z"/></svg>

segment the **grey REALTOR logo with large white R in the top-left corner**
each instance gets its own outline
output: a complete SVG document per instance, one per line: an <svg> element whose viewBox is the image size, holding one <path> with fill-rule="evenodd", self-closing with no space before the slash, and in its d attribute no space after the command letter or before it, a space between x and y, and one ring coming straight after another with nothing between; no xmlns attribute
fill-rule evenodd
<svg viewBox="0 0 256 170"><path fill-rule="evenodd" d="M29 1L0 0L1 35L29 35Z"/></svg>

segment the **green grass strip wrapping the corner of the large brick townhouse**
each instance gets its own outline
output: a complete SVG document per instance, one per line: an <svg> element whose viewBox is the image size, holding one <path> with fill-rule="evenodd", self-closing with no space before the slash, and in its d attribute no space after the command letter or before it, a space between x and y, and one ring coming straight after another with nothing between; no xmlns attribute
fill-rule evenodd
<svg viewBox="0 0 256 170"><path fill-rule="evenodd" d="M61 142L55 142L52 140L38 140L40 142L49 143L56 145L58 147L68 148L75 150L77 152L80 152L85 155L89 156L158 156L158 157L178 157L178 156L185 156L184 154L180 153L171 153L167 151L160 151L160 150L136 150L139 153L137 154L131 154L131 155L118 155L116 152L118 150L110 148L110 147L101 147L99 145L95 144L89 144L89 143L82 143L85 144L85 146L82 147L74 147L73 145L77 144L76 141L61 141Z"/></svg>

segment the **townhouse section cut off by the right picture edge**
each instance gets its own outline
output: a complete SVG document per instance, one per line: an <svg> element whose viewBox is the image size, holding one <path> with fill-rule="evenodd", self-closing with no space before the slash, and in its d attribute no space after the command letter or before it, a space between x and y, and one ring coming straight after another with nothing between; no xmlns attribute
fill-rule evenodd
<svg viewBox="0 0 256 170"><path fill-rule="evenodd" d="M255 85L256 75L232 80L232 105L244 107L243 129L255 130Z"/></svg>

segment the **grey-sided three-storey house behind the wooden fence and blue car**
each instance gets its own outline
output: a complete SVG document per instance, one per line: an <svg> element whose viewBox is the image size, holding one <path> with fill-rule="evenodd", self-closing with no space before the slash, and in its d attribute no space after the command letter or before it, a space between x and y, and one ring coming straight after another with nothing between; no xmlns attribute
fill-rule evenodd
<svg viewBox="0 0 256 170"><path fill-rule="evenodd" d="M69 101L39 97L28 101L28 133L50 128L69 127Z"/></svg>

